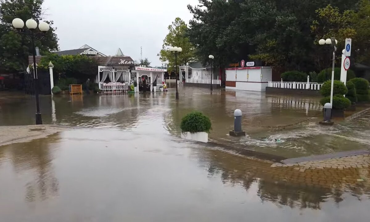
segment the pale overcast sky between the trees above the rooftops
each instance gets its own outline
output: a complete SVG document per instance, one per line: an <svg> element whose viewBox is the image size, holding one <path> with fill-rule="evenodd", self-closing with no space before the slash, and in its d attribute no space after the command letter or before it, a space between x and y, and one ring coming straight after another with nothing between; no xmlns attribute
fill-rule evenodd
<svg viewBox="0 0 370 222"><path fill-rule="evenodd" d="M121 48L134 60L147 57L161 65L157 54L168 34L168 25L180 17L192 19L187 5L198 0L44 0L47 20L57 27L60 50L87 44L105 55Z"/></svg>

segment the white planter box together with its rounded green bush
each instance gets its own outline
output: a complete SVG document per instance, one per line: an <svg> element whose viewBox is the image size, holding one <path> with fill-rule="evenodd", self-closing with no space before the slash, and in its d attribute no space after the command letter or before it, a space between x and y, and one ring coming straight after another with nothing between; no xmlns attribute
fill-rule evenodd
<svg viewBox="0 0 370 222"><path fill-rule="evenodd" d="M198 111L190 112L181 120L181 137L208 142L208 133L211 130L211 125L211 120L206 115Z"/></svg>

